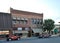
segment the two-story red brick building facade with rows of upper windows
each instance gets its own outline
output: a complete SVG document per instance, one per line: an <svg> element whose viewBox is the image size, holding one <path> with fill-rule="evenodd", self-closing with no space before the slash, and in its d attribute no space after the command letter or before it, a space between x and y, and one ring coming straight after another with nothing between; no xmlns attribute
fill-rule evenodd
<svg viewBox="0 0 60 43"><path fill-rule="evenodd" d="M43 14L10 9L13 34L26 37L38 36L43 32Z"/></svg>

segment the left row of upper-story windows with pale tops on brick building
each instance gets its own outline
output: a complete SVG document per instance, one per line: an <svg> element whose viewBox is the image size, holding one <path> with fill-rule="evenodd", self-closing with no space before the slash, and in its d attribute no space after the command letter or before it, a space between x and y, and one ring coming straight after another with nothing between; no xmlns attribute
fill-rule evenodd
<svg viewBox="0 0 60 43"><path fill-rule="evenodd" d="M13 16L12 23L13 24L27 24L28 18L23 18L23 17L15 17Z"/></svg>

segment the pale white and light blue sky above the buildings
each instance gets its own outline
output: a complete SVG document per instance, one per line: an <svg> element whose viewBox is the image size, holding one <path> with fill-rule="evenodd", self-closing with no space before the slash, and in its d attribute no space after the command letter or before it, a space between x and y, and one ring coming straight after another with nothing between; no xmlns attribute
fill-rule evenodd
<svg viewBox="0 0 60 43"><path fill-rule="evenodd" d="M0 0L0 12L10 12L10 7L43 13L44 19L53 19L55 24L60 21L60 0Z"/></svg>

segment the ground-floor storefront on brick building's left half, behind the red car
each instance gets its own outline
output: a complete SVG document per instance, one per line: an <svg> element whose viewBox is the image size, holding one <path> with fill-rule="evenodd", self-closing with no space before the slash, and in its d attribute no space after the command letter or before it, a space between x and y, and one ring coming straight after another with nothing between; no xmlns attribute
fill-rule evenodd
<svg viewBox="0 0 60 43"><path fill-rule="evenodd" d="M13 30L13 34L21 36L21 37L27 37L28 36L28 28L24 28L24 30L19 27L17 30Z"/></svg>

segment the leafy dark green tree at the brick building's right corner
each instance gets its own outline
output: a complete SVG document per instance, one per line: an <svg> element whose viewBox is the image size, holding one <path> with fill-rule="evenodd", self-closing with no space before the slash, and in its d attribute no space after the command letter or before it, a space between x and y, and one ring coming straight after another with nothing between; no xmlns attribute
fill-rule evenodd
<svg viewBox="0 0 60 43"><path fill-rule="evenodd" d="M44 20L43 26L44 26L44 31L47 30L50 33L50 31L54 28L54 21L52 19L46 19Z"/></svg>

